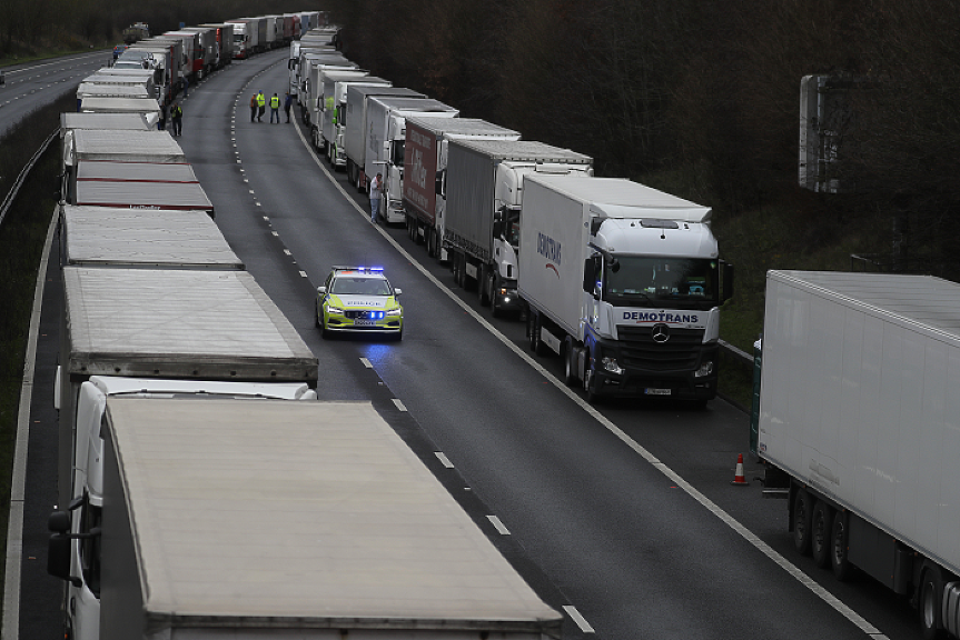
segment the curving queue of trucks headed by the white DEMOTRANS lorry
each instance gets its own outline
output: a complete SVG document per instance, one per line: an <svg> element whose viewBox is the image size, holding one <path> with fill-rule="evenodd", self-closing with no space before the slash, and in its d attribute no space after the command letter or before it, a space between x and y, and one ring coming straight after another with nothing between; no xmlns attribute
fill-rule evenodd
<svg viewBox="0 0 960 640"><path fill-rule="evenodd" d="M709 207L593 178L587 156L338 63L298 88L316 149L360 192L382 174L379 216L493 314L525 319L531 349L563 358L568 384L590 401L716 396L733 267Z"/></svg>

